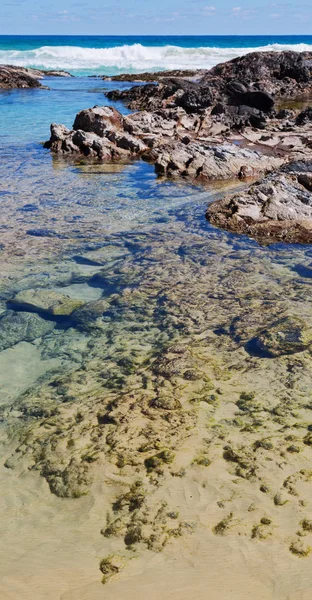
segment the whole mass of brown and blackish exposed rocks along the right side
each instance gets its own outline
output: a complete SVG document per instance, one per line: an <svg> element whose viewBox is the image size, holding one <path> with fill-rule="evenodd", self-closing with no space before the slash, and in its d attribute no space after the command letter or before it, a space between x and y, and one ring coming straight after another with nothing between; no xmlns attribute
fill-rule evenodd
<svg viewBox="0 0 312 600"><path fill-rule="evenodd" d="M143 158L158 175L203 182L267 176L286 163L312 161L311 109L278 106L298 95L309 97L311 65L309 53L252 53L201 73L198 80L187 74L113 91L107 94L110 99L123 100L139 112L124 117L112 107L83 110L72 130L52 124L45 147L55 154L108 162ZM305 186L303 198L300 177L296 190L290 175L288 183L279 174L268 180L275 190L274 210L269 208L273 191L270 197L263 192L262 205L258 195L251 208L260 186L240 199L209 207L207 217L214 225L259 239L310 242L311 186ZM267 189L266 180L263 186ZM285 194L287 210L282 206Z"/></svg>

